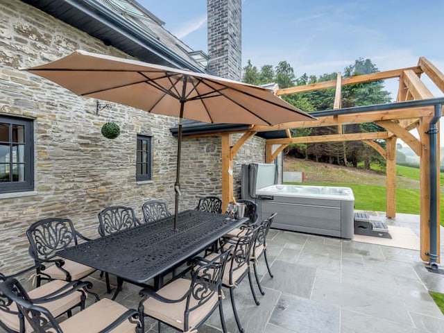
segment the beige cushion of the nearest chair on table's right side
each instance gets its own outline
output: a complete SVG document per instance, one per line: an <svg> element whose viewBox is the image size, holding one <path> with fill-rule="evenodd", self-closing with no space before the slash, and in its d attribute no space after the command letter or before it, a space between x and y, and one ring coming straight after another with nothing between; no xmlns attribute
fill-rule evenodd
<svg viewBox="0 0 444 333"><path fill-rule="evenodd" d="M178 279L165 287L157 291L160 296L164 298L169 298L171 300L177 300L185 295L191 286L191 280ZM200 321L207 316L209 311L214 307L219 298L218 293L214 293L210 300L207 300L202 306L190 312L188 317L189 327L185 327L185 331L193 330ZM164 303L155 298L148 298L144 302L144 312L148 316L157 318L164 323L167 323L179 330L184 330L184 314L187 300L182 300L182 302L177 303ZM197 305L197 300L191 297L189 302L189 307L194 307Z"/></svg>

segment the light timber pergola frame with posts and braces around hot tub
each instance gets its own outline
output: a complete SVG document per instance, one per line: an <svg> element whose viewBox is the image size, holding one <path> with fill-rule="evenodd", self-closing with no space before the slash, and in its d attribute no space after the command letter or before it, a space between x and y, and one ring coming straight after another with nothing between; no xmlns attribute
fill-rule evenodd
<svg viewBox="0 0 444 333"><path fill-rule="evenodd" d="M393 69L391 71L382 71L375 74L366 74L361 76L353 76L351 78L342 78L339 72L336 80L325 81L321 83L313 83L309 85L301 85L278 89L276 94L283 96L287 94L298 94L302 92L310 92L318 89L336 88L333 110L341 109L341 87L344 85L352 85L355 83L368 83L375 80L385 80L389 78L399 79L399 90L396 101L413 101L423 99L433 99L433 94L427 89L422 82L421 74L426 74L432 82L444 92L444 74L439 71L429 60L420 58L418 65L402 69ZM390 104L388 104L390 105ZM357 108L359 109L359 108ZM316 113L316 112L315 112ZM270 163L275 160L278 154L291 143L314 143L314 142L345 142L345 141L362 141L371 146L382 157L386 159L386 216L394 218L396 213L396 140L402 139L413 152L420 157L420 257L424 261L428 261L430 248L430 189L432 186L437 187L438 191L438 223L437 223L437 244L440 248L439 239L439 148L437 149L438 170L436 182L431 182L429 175L429 135L426 134L432 118L434 117L434 106L425 105L414 108L398 108L394 110L376 110L374 112L347 112L327 116L317 116L316 120L299 121L291 123L282 123L277 126L250 126L244 131L237 142L232 142L232 134L234 132L220 133L222 136L222 196L223 205L226 207L228 202L232 200L233 194L233 177L232 170L233 160L239 148L255 133L269 130L286 130L287 138L283 139L267 139L266 140L266 162ZM341 132L342 125L351 123L377 123L385 132L378 133L347 133ZM291 128L313 128L318 126L338 126L338 134L336 135L320 135L308 137L291 137ZM416 128L419 138L413 136L410 130ZM237 132L239 133L239 132ZM213 133L214 135L214 133ZM384 139L386 141L386 149L382 148L375 140ZM439 135L438 135L439 147ZM439 250L438 250L439 253ZM439 258L438 258L439 260Z"/></svg>

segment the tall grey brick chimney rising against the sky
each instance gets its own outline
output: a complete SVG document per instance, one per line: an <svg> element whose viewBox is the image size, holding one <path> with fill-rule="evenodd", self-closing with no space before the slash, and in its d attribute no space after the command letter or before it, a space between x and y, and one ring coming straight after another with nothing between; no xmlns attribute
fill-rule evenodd
<svg viewBox="0 0 444 333"><path fill-rule="evenodd" d="M242 0L207 0L208 71L241 80Z"/></svg>

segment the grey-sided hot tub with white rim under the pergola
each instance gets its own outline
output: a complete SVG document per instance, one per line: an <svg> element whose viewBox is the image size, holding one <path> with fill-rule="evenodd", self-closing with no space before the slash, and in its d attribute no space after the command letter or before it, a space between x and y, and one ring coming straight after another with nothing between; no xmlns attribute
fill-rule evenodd
<svg viewBox="0 0 444 333"><path fill-rule="evenodd" d="M351 239L355 197L349 187L271 185L256 189L259 219L272 228Z"/></svg>

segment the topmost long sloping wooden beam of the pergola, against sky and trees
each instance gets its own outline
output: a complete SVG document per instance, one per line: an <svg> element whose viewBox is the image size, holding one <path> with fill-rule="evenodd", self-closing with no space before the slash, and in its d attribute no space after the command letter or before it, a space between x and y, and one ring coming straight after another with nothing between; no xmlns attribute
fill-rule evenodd
<svg viewBox="0 0 444 333"><path fill-rule="evenodd" d="M402 72L412 70L417 74L422 73L420 66L407 67L402 69L393 69L391 71L380 71L379 73L364 74L359 76L352 76L351 78L343 78L342 85L354 85L355 83L366 83L376 80L385 80L387 78L399 78ZM295 94L297 92L312 92L313 90L333 88L336 86L336 80L311 83L309 85L297 85L296 87L289 87L284 89L278 89L276 94L278 96Z"/></svg>

